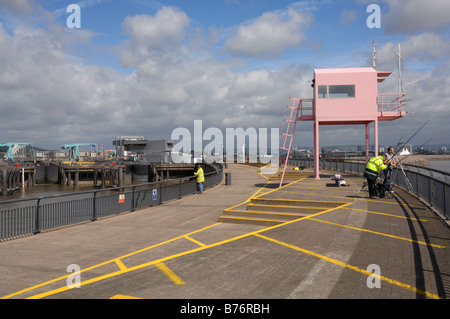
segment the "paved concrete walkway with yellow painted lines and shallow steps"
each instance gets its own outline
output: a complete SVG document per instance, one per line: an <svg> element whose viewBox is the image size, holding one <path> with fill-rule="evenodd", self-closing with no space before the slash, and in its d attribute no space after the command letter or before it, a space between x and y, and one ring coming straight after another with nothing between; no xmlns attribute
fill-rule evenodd
<svg viewBox="0 0 450 319"><path fill-rule="evenodd" d="M450 229L404 191L371 200L367 189L355 195L363 179L354 175L344 174L346 187L321 171L320 180L302 176L278 188L252 166L226 172L231 185L203 195L0 243L0 297L450 295Z"/></svg>

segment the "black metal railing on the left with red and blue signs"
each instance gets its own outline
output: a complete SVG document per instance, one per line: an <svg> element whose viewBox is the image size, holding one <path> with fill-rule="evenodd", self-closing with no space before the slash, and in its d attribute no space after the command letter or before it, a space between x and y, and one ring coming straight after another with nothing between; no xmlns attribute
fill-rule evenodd
<svg viewBox="0 0 450 319"><path fill-rule="evenodd" d="M204 189L222 182L223 166L205 173ZM33 199L0 201L0 241L160 205L197 192L194 176Z"/></svg>

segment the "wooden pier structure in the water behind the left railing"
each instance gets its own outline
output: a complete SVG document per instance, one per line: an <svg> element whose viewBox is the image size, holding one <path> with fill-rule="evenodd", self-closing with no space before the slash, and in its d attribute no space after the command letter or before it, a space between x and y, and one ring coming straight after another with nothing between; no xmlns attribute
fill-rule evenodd
<svg viewBox="0 0 450 319"><path fill-rule="evenodd" d="M15 165L15 166L14 166ZM208 165L205 173L211 171ZM33 162L0 163L0 196L11 195L37 184L121 187L193 176L194 164L154 164L144 162Z"/></svg>

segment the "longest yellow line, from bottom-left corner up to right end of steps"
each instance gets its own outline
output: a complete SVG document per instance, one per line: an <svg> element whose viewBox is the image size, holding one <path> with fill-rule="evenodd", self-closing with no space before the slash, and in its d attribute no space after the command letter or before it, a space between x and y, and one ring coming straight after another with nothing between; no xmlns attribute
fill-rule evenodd
<svg viewBox="0 0 450 319"><path fill-rule="evenodd" d="M260 229L260 230L254 231L254 232L250 232L250 233L246 233L246 234L243 234L243 235L239 235L239 236L236 236L236 237L233 237L233 238L229 238L229 239L226 239L226 240L214 243L214 244L207 245L205 247L199 247L199 248L191 249L191 250L188 250L188 251L185 251L185 252L182 252L182 253L178 253L178 254L175 254L175 255L163 257L163 258L160 258L158 260L154 260L154 261L151 261L151 262L148 262L148 263L144 263L144 264L141 264L141 265L137 265L137 266L134 266L134 267L127 268L127 270L120 270L120 271L109 273L109 274L106 274L106 275L103 275L103 276L92 278L92 279L89 279L89 280L81 282L80 285L82 285L82 286L83 285L88 285L88 284L91 284L91 283L94 283L94 282L98 282L98 281L101 281L101 280L104 280L104 279L112 278L112 277L115 277L115 276L118 276L118 275L121 275L121 274L124 274L124 273L132 272L132 271L135 271L135 270L138 270L138 269L142 269L142 268L146 268L146 267L149 267L149 266L152 266L152 265L156 265L158 263L162 263L162 262L165 262L167 260L171 260L171 259L175 259L175 258L178 258L178 257L186 256L186 255L189 255L189 254L192 254L192 253L196 253L196 252L199 252L199 251L202 251L202 250L205 250L205 249L209 249L209 248L212 248L212 247L221 246L221 245L224 245L224 244L227 244L227 243L239 240L239 239L243 239L243 238L247 238L247 237L253 236L255 234L259 234L261 232L265 232L265 231L268 231L268 230L271 230L271 229L275 229L275 228L278 228L278 227L281 227L281 226L285 226L287 224L298 222L300 220L304 220L304 219L308 219L308 218L311 218L311 217L319 216L319 215L325 214L325 213L333 211L333 210L341 209L341 208L344 208L345 206L348 206L350 204L351 203L347 203L347 204L344 204L344 205L339 206L339 207L331 208L331 209L325 210L323 212L319 212L319 213L313 214L311 216L302 217L302 218L299 218L299 219L296 219L296 220L285 222L283 224L274 225L274 226L270 226L270 227L267 227L267 228L264 228L264 229ZM217 224L214 224L214 225L217 225ZM206 227L206 228L209 228L209 227ZM198 232L198 231L195 231L195 232L192 232L192 233L196 233L196 232ZM190 234L192 234L192 233L190 233ZM184 236L181 236L181 237L184 237ZM157 245L155 245L155 246L157 246ZM103 264L107 264L107 263L109 263L109 262L105 262ZM93 266L93 267L90 267L90 269L94 269L96 267L97 266ZM67 275L67 276L64 276L64 277L61 277L61 278L66 278L68 276L70 276L70 275ZM60 280L61 278L59 278L58 280ZM55 281L57 281L57 280L55 279L55 280L52 280L52 281L48 281L47 283L55 282ZM32 288L28 288L26 290L29 291L29 290L32 290L34 288L37 288L38 286L42 287L42 286L45 286L45 284L47 284L47 283L40 284L40 285L34 286ZM28 299L40 299L40 298L48 297L48 296L51 296L51 295L54 295L54 294L57 294L57 293L60 293L60 292L63 292L63 291L67 291L69 289L70 289L69 287L65 286L65 287L61 287L59 289L55 289L55 290L47 291L47 292L44 292L44 293L41 293L41 294L38 294L38 295L34 295L34 296L32 296L32 297L30 297ZM24 292L24 291L22 290L21 292ZM17 295L17 294L19 294L19 293L15 293L14 295Z"/></svg>

